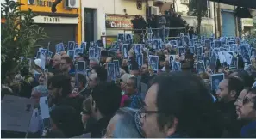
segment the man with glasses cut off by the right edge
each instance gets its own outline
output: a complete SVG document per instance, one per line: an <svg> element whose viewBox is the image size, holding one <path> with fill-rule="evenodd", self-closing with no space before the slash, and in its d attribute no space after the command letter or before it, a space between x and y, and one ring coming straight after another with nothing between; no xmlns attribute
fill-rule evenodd
<svg viewBox="0 0 256 139"><path fill-rule="evenodd" d="M243 126L240 136L243 138L256 137L256 87L245 90L244 98L240 101L238 119L247 121L247 125ZM242 94L242 93L241 93ZM236 103L236 106L238 102Z"/></svg>

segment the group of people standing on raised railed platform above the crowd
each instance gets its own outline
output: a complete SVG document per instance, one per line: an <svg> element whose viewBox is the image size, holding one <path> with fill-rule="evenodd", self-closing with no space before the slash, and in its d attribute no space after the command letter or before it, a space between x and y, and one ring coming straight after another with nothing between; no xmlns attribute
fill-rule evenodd
<svg viewBox="0 0 256 139"><path fill-rule="evenodd" d="M194 27L189 27L189 24L182 19L181 15L173 11L165 11L165 14L150 15L147 17L147 21L141 15L135 15L134 20L131 22L133 23L135 34L146 33L146 28L151 28L154 38L177 37L180 33L189 33L189 31L191 35L195 34Z"/></svg>

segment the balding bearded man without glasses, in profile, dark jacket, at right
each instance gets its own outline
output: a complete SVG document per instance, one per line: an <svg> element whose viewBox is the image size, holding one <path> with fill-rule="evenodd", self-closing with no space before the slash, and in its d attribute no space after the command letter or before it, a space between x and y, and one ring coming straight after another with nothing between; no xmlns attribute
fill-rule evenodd
<svg viewBox="0 0 256 139"><path fill-rule="evenodd" d="M237 121L237 114L234 102L244 88L244 82L239 78L230 77L220 82L216 95L218 103L216 106L222 113L223 132L222 137L240 137L242 124Z"/></svg>

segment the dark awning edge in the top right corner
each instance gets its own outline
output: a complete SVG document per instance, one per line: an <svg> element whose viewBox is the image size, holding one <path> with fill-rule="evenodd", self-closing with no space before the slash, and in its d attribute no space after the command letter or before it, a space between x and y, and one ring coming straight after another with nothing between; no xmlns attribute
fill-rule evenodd
<svg viewBox="0 0 256 139"><path fill-rule="evenodd" d="M209 0L209 1L256 9L256 0Z"/></svg>

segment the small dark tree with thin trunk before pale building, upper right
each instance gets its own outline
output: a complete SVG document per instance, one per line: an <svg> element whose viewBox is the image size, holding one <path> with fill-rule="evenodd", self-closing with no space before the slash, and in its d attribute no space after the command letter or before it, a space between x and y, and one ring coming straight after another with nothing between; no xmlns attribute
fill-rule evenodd
<svg viewBox="0 0 256 139"><path fill-rule="evenodd" d="M190 0L190 15L197 16L197 33L200 35L202 17L207 16L208 0Z"/></svg>

